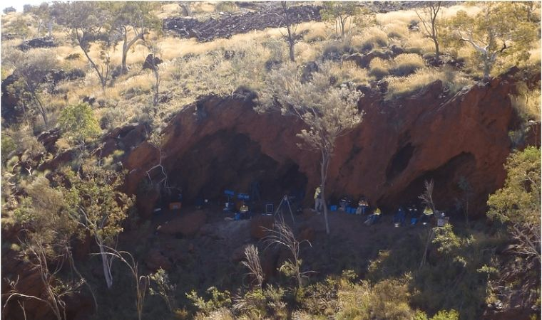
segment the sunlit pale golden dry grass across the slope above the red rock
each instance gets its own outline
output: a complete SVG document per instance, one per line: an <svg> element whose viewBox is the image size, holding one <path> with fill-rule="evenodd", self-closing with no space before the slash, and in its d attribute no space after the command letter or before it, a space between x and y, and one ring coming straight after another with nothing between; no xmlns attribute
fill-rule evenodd
<svg viewBox="0 0 542 320"><path fill-rule="evenodd" d="M216 15L217 6L224 6L219 2L192 2L190 9L196 18L208 18ZM235 9L235 8L233 8ZM444 10L443 16L455 14L459 9L467 9L469 13L476 12L475 6L454 6ZM227 10L222 8L221 10ZM166 3L161 6L158 16L178 15L180 8L177 3ZM21 14L8 14L2 16L2 26L14 21ZM330 44L338 48L354 48L355 50L371 50L389 46L390 43L399 43L410 53L429 53L433 51L432 42L424 38L421 33L408 31L407 25L416 19L414 11L398 11L388 14L377 14L379 26L366 28L359 33L352 33L342 41L329 40L329 30L324 22L300 23L297 32L304 34L305 41L295 46L295 58L298 65L309 61L319 60L324 48ZM29 20L29 22L32 22ZM215 93L218 95L230 95L237 87L245 86L257 90L267 75L266 63L268 61L282 62L288 59L287 46L282 40L283 28L267 28L262 31L251 31L232 36L229 39L215 39L206 43L198 43L195 39L180 39L173 36L163 36L158 40L161 57L164 63L160 65L162 83L160 92L168 92L172 99L167 104L159 106L160 114L177 112L185 105L193 102L199 95ZM358 30L357 30L358 31ZM58 110L66 105L81 101L84 96L96 97L96 116L101 119L106 127L116 127L127 122L143 121L148 119L150 106L150 92L153 85L153 77L147 71L141 71L140 65L148 55L148 49L138 44L128 53L128 66L131 71L128 75L122 75L114 82L113 87L107 87L105 92L101 90L99 81L94 70L91 70L83 52L78 47L71 46L63 31L55 31L55 36L60 46L51 49L51 54L56 55L61 68L70 70L80 68L87 75L81 80L60 83L57 87L58 95L46 95L44 101L48 105L51 117L54 119ZM155 35L150 35L153 37ZM19 45L21 40L3 41L2 49L11 50ZM540 44L538 43L539 48ZM535 47L533 47L535 48ZM225 58L225 51L234 51L231 58ZM89 54L98 63L101 48L98 45L91 46ZM531 63L540 61L540 51L532 50ZM81 58L66 60L68 55L81 53ZM121 63L121 43L114 50L110 50L111 65L116 67ZM467 48L460 50L458 55L471 55ZM389 79L389 97L404 95L407 92L418 90L420 87L431 83L436 79L444 79L450 88L459 87L463 81L462 76L451 77L444 71L423 68L424 63L417 54L399 55L394 61L374 58L369 65L369 70L358 68L355 63L343 64L327 62L322 68L337 78L337 82L354 82L366 84L369 74L373 77L382 78L389 75L390 70L398 70L398 75L417 70L409 77ZM9 72L9 70L5 70ZM4 75L4 70L3 73ZM459 80L458 80L459 79ZM165 117L165 116L160 116Z"/></svg>

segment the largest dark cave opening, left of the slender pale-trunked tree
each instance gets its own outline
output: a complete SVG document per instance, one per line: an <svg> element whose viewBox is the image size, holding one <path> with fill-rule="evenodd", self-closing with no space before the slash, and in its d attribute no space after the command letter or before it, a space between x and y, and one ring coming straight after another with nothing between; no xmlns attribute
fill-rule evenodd
<svg viewBox="0 0 542 320"><path fill-rule="evenodd" d="M220 130L201 139L168 166L170 185L183 189L183 201L198 197L222 201L225 190L251 194L255 186L261 201L305 195L307 176L291 160L278 163L262 153L246 134Z"/></svg>

